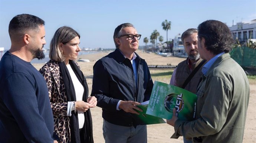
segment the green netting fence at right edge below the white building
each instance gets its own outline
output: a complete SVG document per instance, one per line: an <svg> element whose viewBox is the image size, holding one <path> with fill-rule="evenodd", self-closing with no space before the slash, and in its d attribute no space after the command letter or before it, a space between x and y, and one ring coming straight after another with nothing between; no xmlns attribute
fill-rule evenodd
<svg viewBox="0 0 256 143"><path fill-rule="evenodd" d="M230 56L242 67L256 67L256 49L249 47L235 47Z"/></svg>

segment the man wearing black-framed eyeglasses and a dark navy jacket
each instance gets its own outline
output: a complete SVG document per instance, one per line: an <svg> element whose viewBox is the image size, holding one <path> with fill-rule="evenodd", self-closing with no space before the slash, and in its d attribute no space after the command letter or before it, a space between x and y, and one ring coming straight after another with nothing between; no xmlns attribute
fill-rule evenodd
<svg viewBox="0 0 256 143"><path fill-rule="evenodd" d="M106 143L147 143L147 126L131 114L142 111L136 105L150 99L153 82L147 63L135 53L141 35L124 23L114 32L116 50L93 66L92 96L102 108Z"/></svg>

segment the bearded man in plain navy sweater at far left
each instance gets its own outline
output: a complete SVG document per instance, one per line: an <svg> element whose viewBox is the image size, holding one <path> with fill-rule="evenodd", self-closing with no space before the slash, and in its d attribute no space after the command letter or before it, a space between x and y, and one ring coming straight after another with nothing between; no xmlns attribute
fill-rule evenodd
<svg viewBox="0 0 256 143"><path fill-rule="evenodd" d="M53 143L53 114L43 76L30 64L45 57L45 22L20 14L9 24L11 48L0 61L0 142Z"/></svg>

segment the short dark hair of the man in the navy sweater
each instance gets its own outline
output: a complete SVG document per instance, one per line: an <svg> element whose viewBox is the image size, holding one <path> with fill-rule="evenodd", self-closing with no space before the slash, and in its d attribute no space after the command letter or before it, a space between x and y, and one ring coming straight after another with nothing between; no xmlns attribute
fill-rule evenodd
<svg viewBox="0 0 256 143"><path fill-rule="evenodd" d="M39 25L45 25L45 21L39 17L30 14L16 15L9 24L10 38L22 36L29 30L39 32Z"/></svg>

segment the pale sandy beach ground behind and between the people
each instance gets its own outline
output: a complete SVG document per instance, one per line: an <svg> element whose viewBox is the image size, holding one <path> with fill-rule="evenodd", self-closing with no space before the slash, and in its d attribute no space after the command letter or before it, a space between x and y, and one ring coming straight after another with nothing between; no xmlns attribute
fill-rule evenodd
<svg viewBox="0 0 256 143"><path fill-rule="evenodd" d="M146 60L146 62L150 65L177 65L181 61L183 61L185 58L180 57L163 57L156 55L155 53L144 53L140 50L137 51L137 53ZM95 64L96 60L100 59L101 57L107 55L107 52L102 53L95 53L95 54L89 54L89 55L81 55L78 57L81 59L89 59L91 62L78 62L79 66L81 67L81 70L83 71L83 74L86 77L88 87L89 87L89 94L91 94L92 89L92 77L93 77L93 65ZM33 64L36 69L40 69L43 64ZM150 70L152 73L159 73L159 72L167 72L170 70ZM154 80L159 80L164 83L170 82L170 77L168 78L154 78ZM249 101L249 107L247 111L247 118L246 118L246 125L244 130L244 143L252 143L256 142L256 110L253 109L256 107L256 80L249 80L250 81L250 101ZM92 120L93 120L93 137L95 143L104 143L104 138L102 135L102 121L103 118L101 116L102 109L99 107L95 107L91 109L92 114ZM179 137L179 139L170 139L171 135L174 133L174 128L167 123L162 124L155 124L155 125L147 125L147 131L148 131L148 143L182 143L183 138Z"/></svg>

